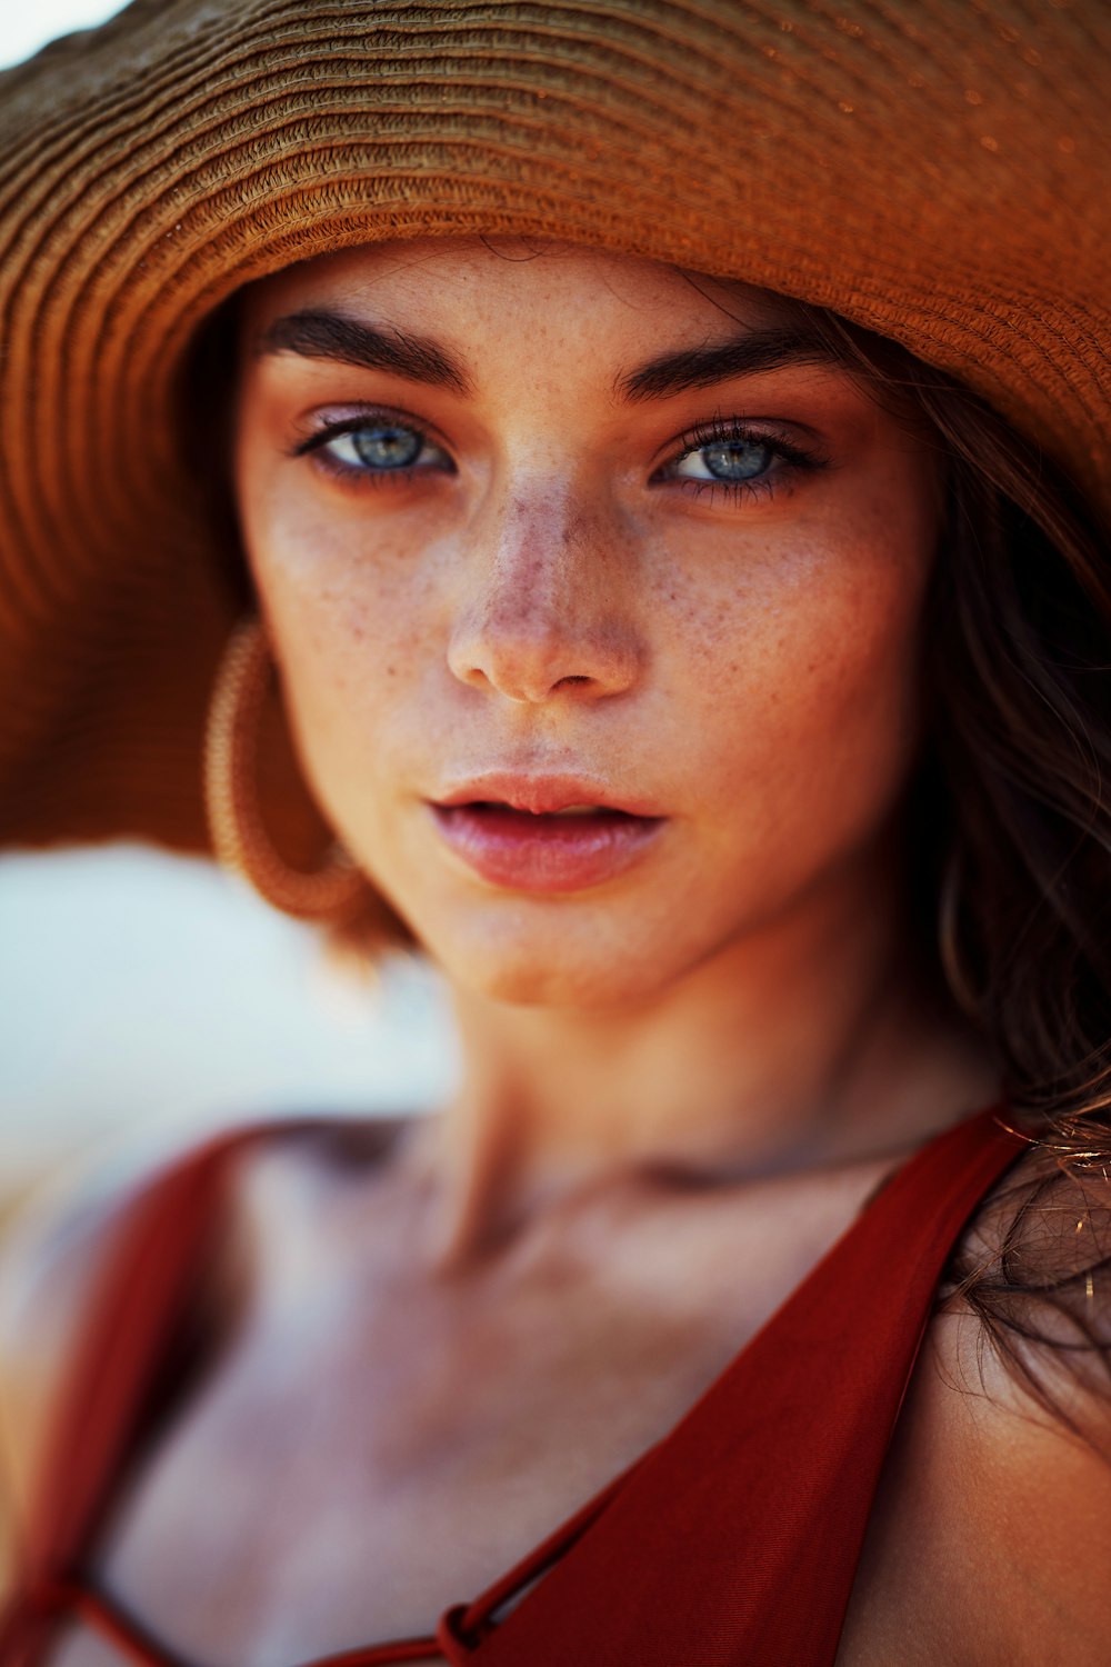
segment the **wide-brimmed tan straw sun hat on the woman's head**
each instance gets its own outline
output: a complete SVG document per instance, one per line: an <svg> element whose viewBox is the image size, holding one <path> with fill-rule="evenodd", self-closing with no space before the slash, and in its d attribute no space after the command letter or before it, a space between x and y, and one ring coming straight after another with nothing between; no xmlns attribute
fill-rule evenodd
<svg viewBox="0 0 1111 1667"><path fill-rule="evenodd" d="M135 0L0 77L0 839L207 847L243 603L183 367L326 250L538 233L831 307L1106 508L1109 47L1108 0Z"/></svg>

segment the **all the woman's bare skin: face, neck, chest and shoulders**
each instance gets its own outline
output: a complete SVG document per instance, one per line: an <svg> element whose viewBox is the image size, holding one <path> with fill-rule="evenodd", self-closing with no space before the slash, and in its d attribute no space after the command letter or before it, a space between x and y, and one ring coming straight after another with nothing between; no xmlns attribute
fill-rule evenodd
<svg viewBox="0 0 1111 1667"><path fill-rule="evenodd" d="M235 487L301 762L443 969L465 1075L373 1155L275 1132L238 1175L222 1347L100 1567L180 1659L428 1634L996 1094L901 860L938 455L844 370L773 365L795 323L513 243L358 250L245 297ZM353 342L373 363L335 357ZM705 480L721 448L748 483ZM590 884L500 884L433 808L490 772L660 820ZM25 1302L23 1487L83 1230L68 1312ZM989 1400L954 1390L979 1342L959 1309L929 1327L838 1667L1043 1667L1061 1615L1103 1667L1111 1469L989 1357ZM50 1667L107 1664L75 1629Z"/></svg>

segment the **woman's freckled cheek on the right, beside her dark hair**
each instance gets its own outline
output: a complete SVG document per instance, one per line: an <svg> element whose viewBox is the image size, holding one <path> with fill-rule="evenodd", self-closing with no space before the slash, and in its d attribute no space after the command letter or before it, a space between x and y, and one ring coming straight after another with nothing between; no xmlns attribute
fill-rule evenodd
<svg viewBox="0 0 1111 1667"><path fill-rule="evenodd" d="M918 738L931 550L933 517L816 530L688 612L676 677L723 827L745 803L765 835L805 840L811 827L859 830L889 805Z"/></svg>

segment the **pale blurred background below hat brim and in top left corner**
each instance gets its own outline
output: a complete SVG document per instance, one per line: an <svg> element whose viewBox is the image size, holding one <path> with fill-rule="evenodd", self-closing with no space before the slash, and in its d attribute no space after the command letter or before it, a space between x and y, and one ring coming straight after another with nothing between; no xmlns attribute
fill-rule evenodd
<svg viewBox="0 0 1111 1667"><path fill-rule="evenodd" d="M2 5L0 67L118 10ZM0 859L0 1222L222 1124L426 1107L455 1069L420 964L353 982L210 864L137 845Z"/></svg>

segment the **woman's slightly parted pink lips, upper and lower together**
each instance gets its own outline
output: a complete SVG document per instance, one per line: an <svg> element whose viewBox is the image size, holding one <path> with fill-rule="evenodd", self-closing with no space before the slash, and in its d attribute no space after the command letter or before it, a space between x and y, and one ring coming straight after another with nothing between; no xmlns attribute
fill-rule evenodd
<svg viewBox="0 0 1111 1667"><path fill-rule="evenodd" d="M576 892L616 879L665 825L658 815L591 802L581 783L531 778L506 785L506 797L465 792L430 805L441 839L480 879L518 892Z"/></svg>

